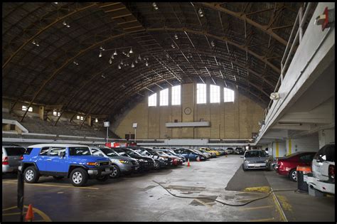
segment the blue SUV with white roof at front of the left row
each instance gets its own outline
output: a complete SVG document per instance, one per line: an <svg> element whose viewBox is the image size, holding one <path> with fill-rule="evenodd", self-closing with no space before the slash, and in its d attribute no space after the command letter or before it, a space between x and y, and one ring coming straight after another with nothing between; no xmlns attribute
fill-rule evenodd
<svg viewBox="0 0 337 224"><path fill-rule="evenodd" d="M19 170L27 183L36 183L40 176L70 178L73 186L84 186L89 178L106 181L112 173L111 161L92 156L88 146L79 144L36 144L23 155Z"/></svg>

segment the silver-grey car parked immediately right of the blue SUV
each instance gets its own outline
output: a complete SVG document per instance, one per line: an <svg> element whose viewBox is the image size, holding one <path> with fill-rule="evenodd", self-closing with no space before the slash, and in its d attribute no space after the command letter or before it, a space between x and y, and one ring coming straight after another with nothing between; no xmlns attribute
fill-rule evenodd
<svg viewBox="0 0 337 224"><path fill-rule="evenodd" d="M130 158L129 156L120 156L114 149L108 147L90 147L90 149L94 156L104 156L110 159L113 167L110 174L111 178L117 178L121 174L131 174L140 167L137 159Z"/></svg>

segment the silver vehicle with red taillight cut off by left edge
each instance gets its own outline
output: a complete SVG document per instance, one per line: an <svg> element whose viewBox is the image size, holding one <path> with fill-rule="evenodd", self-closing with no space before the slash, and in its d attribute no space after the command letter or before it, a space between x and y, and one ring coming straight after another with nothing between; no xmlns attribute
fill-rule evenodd
<svg viewBox="0 0 337 224"><path fill-rule="evenodd" d="M16 144L2 145L2 174L18 171L26 149Z"/></svg>

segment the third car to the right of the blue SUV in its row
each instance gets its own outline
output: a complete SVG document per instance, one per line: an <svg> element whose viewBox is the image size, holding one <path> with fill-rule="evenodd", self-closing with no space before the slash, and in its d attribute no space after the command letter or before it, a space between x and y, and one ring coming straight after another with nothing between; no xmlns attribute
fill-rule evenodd
<svg viewBox="0 0 337 224"><path fill-rule="evenodd" d="M172 159L169 156L161 156L154 149L135 146L131 146L128 148L138 152L143 156L149 156L154 159L154 169L161 169L172 165Z"/></svg>

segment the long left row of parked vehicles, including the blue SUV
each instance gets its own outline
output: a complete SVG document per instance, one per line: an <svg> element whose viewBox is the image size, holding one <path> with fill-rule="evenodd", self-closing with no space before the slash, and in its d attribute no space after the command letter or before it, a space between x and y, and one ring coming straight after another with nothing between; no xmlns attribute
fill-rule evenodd
<svg viewBox="0 0 337 224"><path fill-rule="evenodd" d="M223 149L151 149L139 146L109 148L77 144L36 144L25 149L2 146L2 172L23 171L27 183L40 176L70 178L73 186L84 186L89 178L106 181L122 174L183 165L187 160L205 161L227 155Z"/></svg>

